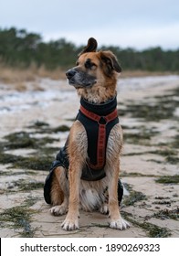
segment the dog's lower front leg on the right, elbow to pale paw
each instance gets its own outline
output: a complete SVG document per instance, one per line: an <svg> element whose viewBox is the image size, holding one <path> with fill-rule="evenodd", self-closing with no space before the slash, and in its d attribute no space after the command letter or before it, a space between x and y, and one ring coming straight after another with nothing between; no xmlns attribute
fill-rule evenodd
<svg viewBox="0 0 179 256"><path fill-rule="evenodd" d="M111 173L109 183L109 211L110 211L110 227L111 229L127 229L130 225L121 218L120 208L118 204L118 180L120 172L120 161L113 163L113 171Z"/></svg>

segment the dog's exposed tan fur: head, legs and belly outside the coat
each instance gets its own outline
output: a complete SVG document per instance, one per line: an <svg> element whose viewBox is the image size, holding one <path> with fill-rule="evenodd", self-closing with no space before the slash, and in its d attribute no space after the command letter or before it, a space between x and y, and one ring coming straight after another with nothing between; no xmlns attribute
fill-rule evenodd
<svg viewBox="0 0 179 256"><path fill-rule="evenodd" d="M88 45L79 54L77 66L66 73L68 82L79 94L89 102L100 104L116 95L116 83L121 67L111 51L96 51L97 41L89 38ZM50 209L54 215L67 214L62 223L66 230L79 229L79 202L84 210L97 207L101 213L110 213L112 229L126 229L129 224L121 219L118 204L117 188L120 173L120 153L122 132L120 124L116 124L110 133L106 152L106 176L98 181L81 180L82 166L88 158L87 134L83 125L77 120L73 123L68 137L69 169L59 166L55 170ZM108 202L104 190L108 187Z"/></svg>

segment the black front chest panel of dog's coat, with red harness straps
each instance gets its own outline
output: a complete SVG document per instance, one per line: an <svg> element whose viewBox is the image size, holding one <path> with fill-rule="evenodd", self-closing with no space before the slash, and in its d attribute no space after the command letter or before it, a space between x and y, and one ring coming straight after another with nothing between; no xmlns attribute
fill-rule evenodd
<svg viewBox="0 0 179 256"><path fill-rule="evenodd" d="M119 119L116 110L116 98L111 101L93 105L81 99L77 120L84 126L88 139L88 159L81 178L99 180L105 176L106 149L111 129Z"/></svg>

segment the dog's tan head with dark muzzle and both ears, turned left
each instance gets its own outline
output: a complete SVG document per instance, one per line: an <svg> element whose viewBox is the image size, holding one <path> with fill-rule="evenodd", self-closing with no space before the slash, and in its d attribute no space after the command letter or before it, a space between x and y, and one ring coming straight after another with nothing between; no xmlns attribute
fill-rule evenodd
<svg viewBox="0 0 179 256"><path fill-rule="evenodd" d="M121 73L115 55L111 51L96 51L97 46L96 39L90 37L88 45L79 53L77 66L66 73L68 83L76 89L115 83L117 73Z"/></svg>

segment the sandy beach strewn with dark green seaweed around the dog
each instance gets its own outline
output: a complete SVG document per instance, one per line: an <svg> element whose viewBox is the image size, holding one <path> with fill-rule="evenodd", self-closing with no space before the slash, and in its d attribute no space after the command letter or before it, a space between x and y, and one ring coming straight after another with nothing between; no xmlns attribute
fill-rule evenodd
<svg viewBox="0 0 179 256"><path fill-rule="evenodd" d="M179 237L178 85L178 76L118 84L121 214L131 228L110 229L108 216L81 211L80 229L64 231L43 183L78 112L76 92L66 81L0 83L0 237Z"/></svg>

